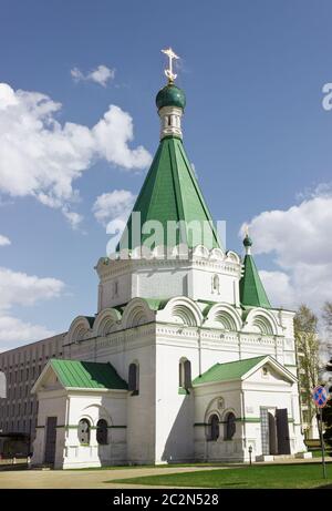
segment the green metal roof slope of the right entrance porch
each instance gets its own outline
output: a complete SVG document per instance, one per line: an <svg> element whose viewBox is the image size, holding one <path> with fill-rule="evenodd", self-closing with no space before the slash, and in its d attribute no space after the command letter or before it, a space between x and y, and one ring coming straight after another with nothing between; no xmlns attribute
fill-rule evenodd
<svg viewBox="0 0 332 511"><path fill-rule="evenodd" d="M193 381L194 385L212 384L215 381L228 381L240 379L246 372L252 369L257 364L267 358L267 356L246 358L234 362L216 364L201 376Z"/></svg>

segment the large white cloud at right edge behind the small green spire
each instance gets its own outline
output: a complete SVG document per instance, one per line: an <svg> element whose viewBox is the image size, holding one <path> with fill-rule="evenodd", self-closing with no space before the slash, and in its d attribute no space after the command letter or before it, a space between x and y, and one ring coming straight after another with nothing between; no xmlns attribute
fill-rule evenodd
<svg viewBox="0 0 332 511"><path fill-rule="evenodd" d="M243 227L243 226L242 226ZM260 272L273 305L307 303L319 311L332 299L332 193L320 185L309 198L249 223L253 253L272 254L277 272Z"/></svg>

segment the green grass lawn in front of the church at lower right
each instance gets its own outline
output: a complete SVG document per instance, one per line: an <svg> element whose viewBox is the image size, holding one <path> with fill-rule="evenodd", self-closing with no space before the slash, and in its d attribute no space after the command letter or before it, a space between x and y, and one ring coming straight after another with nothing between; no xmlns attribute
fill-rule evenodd
<svg viewBox="0 0 332 511"><path fill-rule="evenodd" d="M323 479L320 463L276 464L117 479L116 482L173 488L318 488L332 484L332 464L326 466L326 473L328 479Z"/></svg>

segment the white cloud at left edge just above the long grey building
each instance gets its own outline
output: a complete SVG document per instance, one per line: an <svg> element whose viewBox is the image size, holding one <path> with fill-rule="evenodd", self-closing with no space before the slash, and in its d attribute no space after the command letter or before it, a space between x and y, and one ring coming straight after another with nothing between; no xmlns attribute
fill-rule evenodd
<svg viewBox="0 0 332 511"><path fill-rule="evenodd" d="M56 278L39 278L0 267L0 350L11 349L54 333L41 325L22 321L10 314L15 306L32 306L37 302L60 297L64 284Z"/></svg>

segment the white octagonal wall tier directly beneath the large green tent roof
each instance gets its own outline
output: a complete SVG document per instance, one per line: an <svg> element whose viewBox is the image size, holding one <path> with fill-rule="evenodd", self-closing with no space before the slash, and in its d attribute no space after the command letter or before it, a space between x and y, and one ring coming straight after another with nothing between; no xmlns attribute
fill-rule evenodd
<svg viewBox="0 0 332 511"><path fill-rule="evenodd" d="M190 255L189 258L101 259L96 266L101 283L98 311L123 305L134 297L225 302L239 306L239 257L229 253L225 260ZM214 252L214 251L212 251ZM212 254L211 252L211 254ZM217 280L214 284L214 278Z"/></svg>

